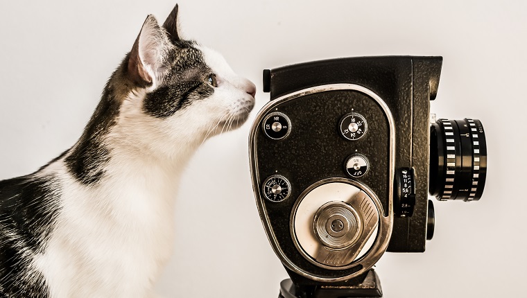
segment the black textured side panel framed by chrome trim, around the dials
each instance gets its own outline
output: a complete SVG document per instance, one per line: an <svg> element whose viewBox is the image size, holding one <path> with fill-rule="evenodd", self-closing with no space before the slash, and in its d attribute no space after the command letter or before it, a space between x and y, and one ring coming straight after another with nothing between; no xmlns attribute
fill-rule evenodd
<svg viewBox="0 0 527 298"><path fill-rule="evenodd" d="M358 91L361 90L361 91ZM376 98L376 99L374 99ZM370 132L358 141L350 141L339 132L340 119L349 112L361 112L370 125ZM260 121L271 112L282 112L291 119L287 139L273 140L260 129ZM298 274L319 281L339 281L368 270L386 250L392 221L392 140L395 128L390 110L383 100L361 86L338 84L306 89L275 100L259 112L251 131L250 157L257 204L270 243L282 263ZM289 231L289 218L295 200L313 183L327 178L345 178L345 162L353 152L370 156L368 175L357 181L370 187L379 198L383 218L379 243L359 263L346 270L328 272L306 261L295 248ZM269 175L284 175L291 182L291 198L280 204L260 200L261 182ZM374 195L372 195L374 196ZM267 201L267 202L266 202ZM375 260L375 261L373 261ZM361 265L368 264L368 265Z"/></svg>

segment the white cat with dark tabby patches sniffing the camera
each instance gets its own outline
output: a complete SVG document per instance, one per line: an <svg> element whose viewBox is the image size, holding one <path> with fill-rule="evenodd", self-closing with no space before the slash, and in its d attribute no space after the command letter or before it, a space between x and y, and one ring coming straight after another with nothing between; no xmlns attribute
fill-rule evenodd
<svg viewBox="0 0 527 298"><path fill-rule="evenodd" d="M205 139L241 126L256 87L148 15L80 139L0 181L0 297L149 297L173 250L174 194Z"/></svg>

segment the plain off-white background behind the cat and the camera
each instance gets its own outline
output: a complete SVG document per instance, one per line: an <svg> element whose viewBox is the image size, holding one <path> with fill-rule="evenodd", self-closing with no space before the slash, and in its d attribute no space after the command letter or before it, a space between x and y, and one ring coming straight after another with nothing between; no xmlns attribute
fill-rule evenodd
<svg viewBox="0 0 527 298"><path fill-rule="evenodd" d="M31 173L80 137L148 13L172 1L0 1L0 179ZM225 55L268 100L261 70L362 55L442 55L439 117L480 119L479 202L435 202L424 254L386 253L385 297L523 297L527 277L527 1L180 1L187 37ZM286 278L252 194L248 131L197 152L178 193L166 297L277 297Z"/></svg>

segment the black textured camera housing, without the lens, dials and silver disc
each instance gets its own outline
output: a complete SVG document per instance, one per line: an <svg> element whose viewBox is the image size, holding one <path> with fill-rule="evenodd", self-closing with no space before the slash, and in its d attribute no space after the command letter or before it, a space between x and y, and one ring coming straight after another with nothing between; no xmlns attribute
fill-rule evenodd
<svg viewBox="0 0 527 298"><path fill-rule="evenodd" d="M441 57L387 56L323 60L264 71L264 91L270 92L271 103L257 116L250 135L252 182L268 238L295 283L346 281L373 265L327 269L299 253L291 212L302 193L325 179L356 181L378 198L381 220L386 222L379 229L389 231L383 234L388 239L373 263L385 250L424 252L427 229L429 235L433 229L428 200L429 102L438 92L441 66ZM318 91L306 91L313 89ZM273 100L291 94L296 94L293 99L273 105ZM262 122L273 112L288 118L288 125L279 119L286 126L285 137L273 137L275 132L269 124L266 130ZM343 116L353 112L368 121L368 133L350 141L339 127ZM346 171L346 160L354 154L363 154L369 161L368 172L360 177ZM399 169L413 170L412 213L395 214ZM290 187L287 198L277 198L279 202L264 194L264 184L273 175L286 177L289 184L283 187Z"/></svg>

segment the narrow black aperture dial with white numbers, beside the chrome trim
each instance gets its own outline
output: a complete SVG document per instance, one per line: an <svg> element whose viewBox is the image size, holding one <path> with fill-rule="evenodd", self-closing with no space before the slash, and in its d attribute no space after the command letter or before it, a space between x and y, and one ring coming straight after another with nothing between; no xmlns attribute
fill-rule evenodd
<svg viewBox="0 0 527 298"><path fill-rule="evenodd" d="M412 168L400 168L395 175L395 213L412 216L415 207L415 183Z"/></svg>

